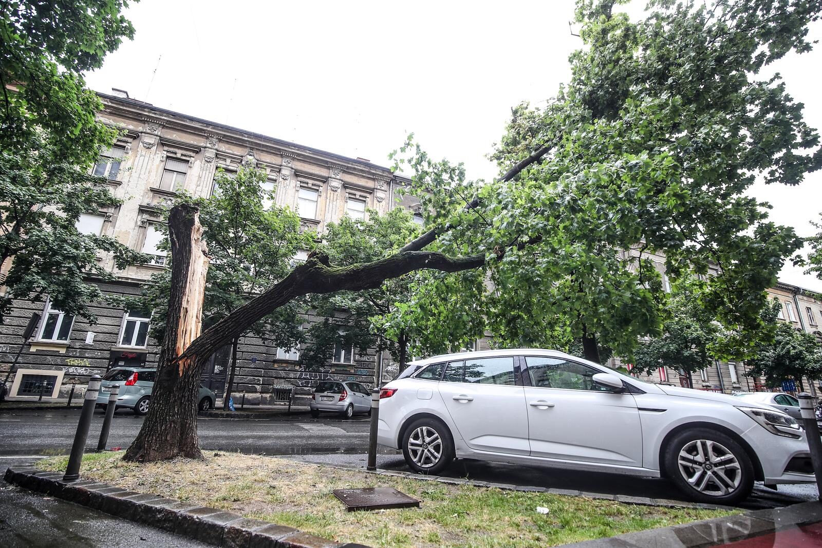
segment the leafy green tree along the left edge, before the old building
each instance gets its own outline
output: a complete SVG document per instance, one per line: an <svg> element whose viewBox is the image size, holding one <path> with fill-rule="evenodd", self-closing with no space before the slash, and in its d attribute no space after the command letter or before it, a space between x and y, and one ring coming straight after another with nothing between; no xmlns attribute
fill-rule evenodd
<svg viewBox="0 0 822 548"><path fill-rule="evenodd" d="M98 122L102 104L82 71L100 67L134 30L122 0L0 4L0 320L14 298L48 294L55 308L94 320L86 305L104 299L88 277L110 279L141 255L110 237L80 233L83 213L119 204L91 166L117 131ZM13 260L12 260L13 258Z"/></svg>

